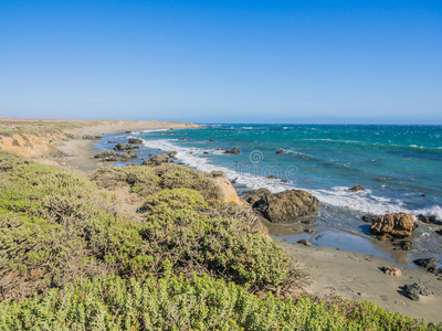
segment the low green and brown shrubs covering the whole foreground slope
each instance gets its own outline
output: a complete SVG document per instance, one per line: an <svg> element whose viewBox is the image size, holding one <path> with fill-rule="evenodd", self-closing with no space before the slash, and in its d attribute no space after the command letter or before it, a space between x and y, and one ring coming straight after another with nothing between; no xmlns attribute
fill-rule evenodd
<svg viewBox="0 0 442 331"><path fill-rule="evenodd" d="M302 273L214 175L162 164L87 179L0 151L0 330L442 330L295 296Z"/></svg>

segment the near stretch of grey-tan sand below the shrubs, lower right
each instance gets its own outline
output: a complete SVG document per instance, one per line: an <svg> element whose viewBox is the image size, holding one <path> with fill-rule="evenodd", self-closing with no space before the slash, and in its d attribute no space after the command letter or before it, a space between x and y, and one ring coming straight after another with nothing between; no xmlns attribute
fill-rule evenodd
<svg viewBox="0 0 442 331"><path fill-rule="evenodd" d="M307 247L288 244L283 236L271 237L294 256L299 266L311 276L307 291L312 293L338 293L347 299L376 301L391 312L400 312L428 322L442 321L442 278L412 266L391 263L388 259L330 247ZM402 271L393 277L379 268L392 266ZM401 295L406 284L421 282L432 296L420 296L412 301Z"/></svg>

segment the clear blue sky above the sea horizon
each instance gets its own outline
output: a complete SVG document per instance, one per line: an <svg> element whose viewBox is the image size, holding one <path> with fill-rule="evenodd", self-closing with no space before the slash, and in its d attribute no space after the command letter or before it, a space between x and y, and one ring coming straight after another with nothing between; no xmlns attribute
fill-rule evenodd
<svg viewBox="0 0 442 331"><path fill-rule="evenodd" d="M442 124L442 1L3 1L0 117Z"/></svg>

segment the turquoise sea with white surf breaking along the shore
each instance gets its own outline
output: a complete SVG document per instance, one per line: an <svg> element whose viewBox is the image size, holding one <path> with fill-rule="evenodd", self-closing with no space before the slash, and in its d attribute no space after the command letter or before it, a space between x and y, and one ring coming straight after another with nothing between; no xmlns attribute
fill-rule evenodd
<svg viewBox="0 0 442 331"><path fill-rule="evenodd" d="M207 125L131 136L145 140L140 157L178 151L178 160L189 167L223 170L235 180L240 193L257 188L309 191L322 202L318 228L333 228L328 232L332 237L339 231L357 236L352 250L378 250L360 221L366 213L408 212L442 220L442 126ZM181 137L189 140L179 140ZM127 135L112 138L124 141ZM241 153L217 151L233 147ZM280 149L284 153L276 153ZM270 174L278 179L267 179ZM366 191L348 191L355 184ZM414 256L441 256L442 237L434 228L418 228ZM288 241L296 238L287 236ZM333 244L333 239L323 243L344 245Z"/></svg>

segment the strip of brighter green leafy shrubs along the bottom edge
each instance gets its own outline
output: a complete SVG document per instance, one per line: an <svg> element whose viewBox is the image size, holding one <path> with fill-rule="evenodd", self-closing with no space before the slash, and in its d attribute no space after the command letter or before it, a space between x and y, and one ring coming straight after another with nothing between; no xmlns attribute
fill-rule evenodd
<svg viewBox="0 0 442 331"><path fill-rule="evenodd" d="M192 281L109 276L53 289L20 303L0 303L1 330L441 330L369 302L362 314L309 298L260 300L208 276Z"/></svg>

